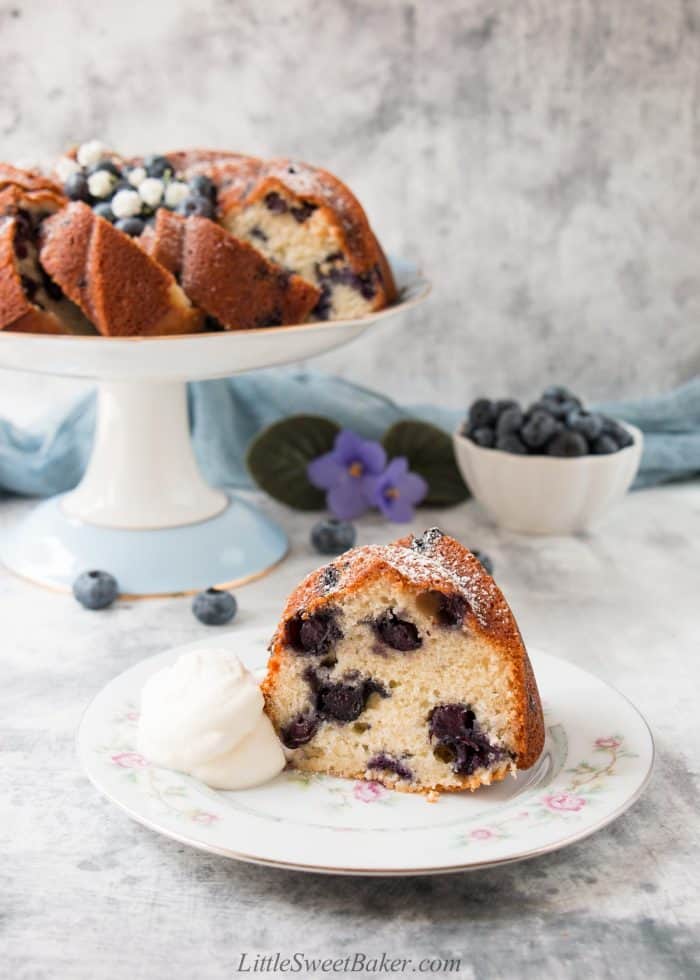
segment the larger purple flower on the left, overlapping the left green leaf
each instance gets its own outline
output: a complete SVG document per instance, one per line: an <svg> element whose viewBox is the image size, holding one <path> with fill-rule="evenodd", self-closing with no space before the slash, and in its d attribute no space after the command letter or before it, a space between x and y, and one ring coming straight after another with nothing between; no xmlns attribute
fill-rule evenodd
<svg viewBox="0 0 700 980"><path fill-rule="evenodd" d="M307 473L315 487L328 491L328 508L336 517L351 521L371 506L367 480L386 466L386 453L378 442L362 439L343 429L333 449L309 463Z"/></svg>

